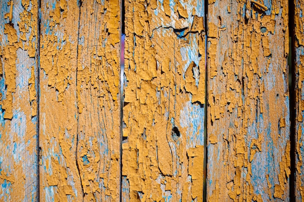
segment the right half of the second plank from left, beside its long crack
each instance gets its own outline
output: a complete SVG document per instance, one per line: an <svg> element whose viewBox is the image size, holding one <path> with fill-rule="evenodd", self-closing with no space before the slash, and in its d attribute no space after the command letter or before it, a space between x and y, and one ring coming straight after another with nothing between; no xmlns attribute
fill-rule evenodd
<svg viewBox="0 0 304 202"><path fill-rule="evenodd" d="M81 7L77 157L84 201L119 201L119 8L119 0L86 0Z"/></svg>

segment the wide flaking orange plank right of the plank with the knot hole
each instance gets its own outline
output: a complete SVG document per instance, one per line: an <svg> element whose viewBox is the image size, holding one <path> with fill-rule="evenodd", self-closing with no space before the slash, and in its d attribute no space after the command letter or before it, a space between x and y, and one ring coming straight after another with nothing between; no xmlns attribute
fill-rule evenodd
<svg viewBox="0 0 304 202"><path fill-rule="evenodd" d="M210 202L289 201L288 2L263 5L209 0Z"/></svg>

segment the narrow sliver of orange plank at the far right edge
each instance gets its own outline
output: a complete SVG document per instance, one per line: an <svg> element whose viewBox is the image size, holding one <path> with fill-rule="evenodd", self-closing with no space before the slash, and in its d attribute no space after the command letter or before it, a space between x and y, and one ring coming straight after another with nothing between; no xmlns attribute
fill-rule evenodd
<svg viewBox="0 0 304 202"><path fill-rule="evenodd" d="M304 17L303 0L294 0L295 5L295 103L296 103L296 133L295 133L295 198L296 202L304 201Z"/></svg>

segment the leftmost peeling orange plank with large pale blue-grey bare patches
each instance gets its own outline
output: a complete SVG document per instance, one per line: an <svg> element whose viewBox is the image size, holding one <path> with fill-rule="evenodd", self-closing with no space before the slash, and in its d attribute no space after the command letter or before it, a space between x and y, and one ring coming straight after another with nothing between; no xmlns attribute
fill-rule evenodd
<svg viewBox="0 0 304 202"><path fill-rule="evenodd" d="M36 201L35 0L0 1L0 201Z"/></svg>

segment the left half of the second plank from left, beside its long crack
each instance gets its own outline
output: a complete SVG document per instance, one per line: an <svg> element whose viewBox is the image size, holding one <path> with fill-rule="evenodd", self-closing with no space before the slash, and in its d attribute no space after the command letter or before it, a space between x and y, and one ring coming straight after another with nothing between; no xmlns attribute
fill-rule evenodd
<svg viewBox="0 0 304 202"><path fill-rule="evenodd" d="M40 200L83 201L76 165L77 1L41 0Z"/></svg>

